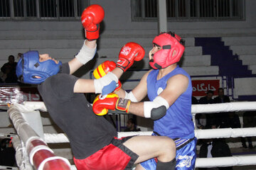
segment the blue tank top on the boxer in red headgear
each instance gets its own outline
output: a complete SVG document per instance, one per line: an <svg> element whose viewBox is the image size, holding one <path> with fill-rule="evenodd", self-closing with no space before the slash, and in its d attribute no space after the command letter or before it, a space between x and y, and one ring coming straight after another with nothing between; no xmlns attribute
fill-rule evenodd
<svg viewBox="0 0 256 170"><path fill-rule="evenodd" d="M170 106L163 118L154 120L154 132L159 133L161 136L171 137L172 139L176 137L185 139L194 137L194 125L191 114L191 77L185 70L178 67L178 65L176 69L159 80L157 80L158 74L159 69L154 69L146 79L150 101L153 101L156 96L159 96L161 91L166 88L168 79L176 74L183 74L188 77L188 88Z"/></svg>

